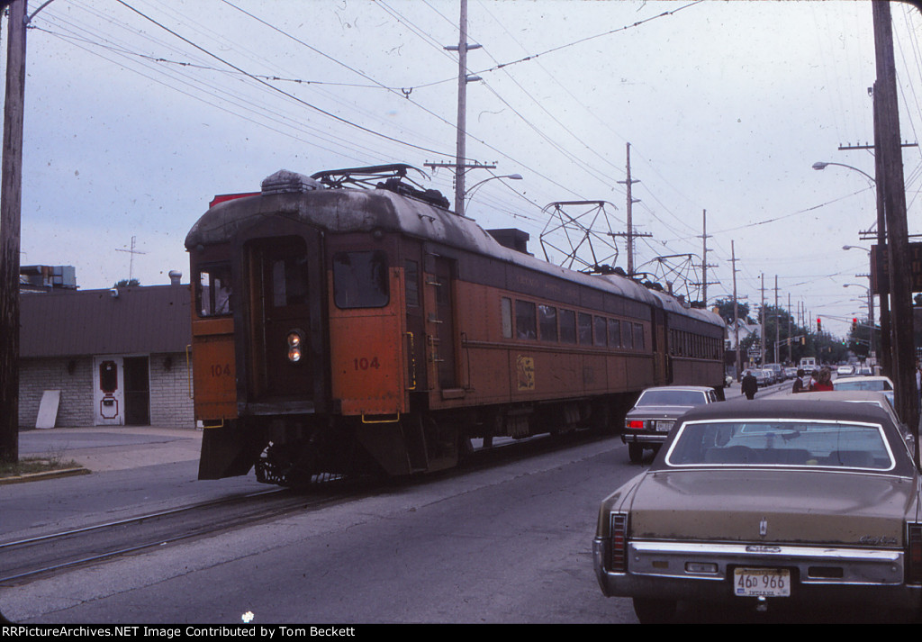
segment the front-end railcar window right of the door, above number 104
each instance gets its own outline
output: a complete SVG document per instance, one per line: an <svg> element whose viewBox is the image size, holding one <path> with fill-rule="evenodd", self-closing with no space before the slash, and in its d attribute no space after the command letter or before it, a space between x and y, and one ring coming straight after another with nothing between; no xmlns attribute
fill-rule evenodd
<svg viewBox="0 0 922 642"><path fill-rule="evenodd" d="M337 252L333 256L333 299L343 309L390 303L384 252Z"/></svg>

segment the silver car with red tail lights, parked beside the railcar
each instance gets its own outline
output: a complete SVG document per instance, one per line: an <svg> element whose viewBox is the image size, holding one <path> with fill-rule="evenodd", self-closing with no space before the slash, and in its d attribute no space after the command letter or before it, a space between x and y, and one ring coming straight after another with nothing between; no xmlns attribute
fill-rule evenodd
<svg viewBox="0 0 922 642"><path fill-rule="evenodd" d="M624 418L621 441L628 445L628 457L637 463L644 449L658 450L669 430L685 410L715 403L720 399L714 388L706 386L657 386L644 390Z"/></svg>

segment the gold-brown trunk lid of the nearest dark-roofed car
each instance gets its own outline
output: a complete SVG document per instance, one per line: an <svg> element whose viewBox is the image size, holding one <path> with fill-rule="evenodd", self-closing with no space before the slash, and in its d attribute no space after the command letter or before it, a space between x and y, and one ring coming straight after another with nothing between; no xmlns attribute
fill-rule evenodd
<svg viewBox="0 0 922 642"><path fill-rule="evenodd" d="M913 482L821 470L664 470L633 497L632 539L902 547Z"/></svg>

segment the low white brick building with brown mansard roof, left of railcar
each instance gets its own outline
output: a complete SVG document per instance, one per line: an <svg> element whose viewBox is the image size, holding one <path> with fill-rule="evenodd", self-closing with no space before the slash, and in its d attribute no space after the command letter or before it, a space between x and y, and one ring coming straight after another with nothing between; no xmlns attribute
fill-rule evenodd
<svg viewBox="0 0 922 642"><path fill-rule="evenodd" d="M19 424L194 427L189 286L22 291ZM43 415L44 416L44 415Z"/></svg>

